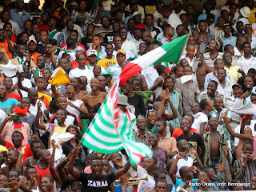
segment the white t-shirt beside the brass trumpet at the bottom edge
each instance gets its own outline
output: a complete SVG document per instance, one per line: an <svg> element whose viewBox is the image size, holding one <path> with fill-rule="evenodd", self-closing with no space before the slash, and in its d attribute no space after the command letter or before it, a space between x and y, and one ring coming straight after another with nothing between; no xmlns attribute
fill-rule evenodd
<svg viewBox="0 0 256 192"><path fill-rule="evenodd" d="M137 166L137 174L138 174L138 178L146 178L147 177L147 181L145 181L145 180L139 181L137 192L154 190L154 186L155 186L154 177L147 174L146 170L142 166ZM150 187L150 190L144 189L144 187L142 185L145 187Z"/></svg>

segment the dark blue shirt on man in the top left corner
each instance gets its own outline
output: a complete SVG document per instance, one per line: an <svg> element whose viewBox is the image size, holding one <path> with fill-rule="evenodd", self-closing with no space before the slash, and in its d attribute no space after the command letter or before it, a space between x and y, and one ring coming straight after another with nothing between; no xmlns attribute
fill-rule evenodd
<svg viewBox="0 0 256 192"><path fill-rule="evenodd" d="M17 22L19 28L24 32L23 24L26 22L26 20L30 19L30 13L26 12L26 10L22 11L22 15L18 14L17 9L10 10L10 20Z"/></svg>

